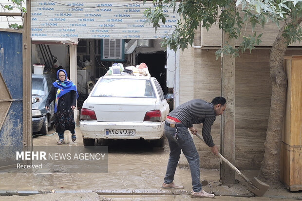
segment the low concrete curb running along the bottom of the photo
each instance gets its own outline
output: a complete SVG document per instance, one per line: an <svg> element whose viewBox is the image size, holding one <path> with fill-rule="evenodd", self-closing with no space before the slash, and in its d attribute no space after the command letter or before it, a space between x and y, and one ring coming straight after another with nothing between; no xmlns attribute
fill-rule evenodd
<svg viewBox="0 0 302 201"><path fill-rule="evenodd" d="M29 196L47 193L97 193L98 195L189 195L188 190L159 190L159 189L128 189L128 190L0 190L0 196ZM215 193L215 196L233 196L233 197L253 197L250 195L230 195ZM282 196L282 195L267 195L267 198L278 199L295 199L302 200L302 195L297 196Z"/></svg>

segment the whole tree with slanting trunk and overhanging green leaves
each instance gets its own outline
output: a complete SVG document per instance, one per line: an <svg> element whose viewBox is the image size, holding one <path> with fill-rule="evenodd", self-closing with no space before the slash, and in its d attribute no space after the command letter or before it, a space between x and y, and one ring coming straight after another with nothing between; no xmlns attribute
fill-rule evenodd
<svg viewBox="0 0 302 201"><path fill-rule="evenodd" d="M145 2L145 0L144 0ZM162 46L176 51L188 48L195 37L199 25L207 30L218 24L230 39L241 38L242 42L234 47L223 44L216 51L216 58L227 54L238 56L238 52L250 52L259 45L262 34L254 32L256 26L265 27L273 22L279 33L272 44L269 69L272 83L271 108L264 143L264 160L259 177L273 186L279 184L280 146L286 101L287 77L283 69L283 58L289 44L301 41L302 0L153 0L153 7L145 10L147 22L153 27L165 23L168 17L163 8L173 8L181 17L172 34L163 38ZM178 4L178 6L177 6ZM177 10L176 10L177 9ZM243 17L241 17L244 14ZM253 34L246 32L247 25Z"/></svg>

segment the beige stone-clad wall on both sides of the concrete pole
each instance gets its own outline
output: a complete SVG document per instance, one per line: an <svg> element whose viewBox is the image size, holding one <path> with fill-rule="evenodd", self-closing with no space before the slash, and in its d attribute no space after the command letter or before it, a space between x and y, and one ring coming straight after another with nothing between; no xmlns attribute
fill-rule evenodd
<svg viewBox="0 0 302 201"><path fill-rule="evenodd" d="M210 102L221 95L221 61L216 60L215 51L189 48L180 55L181 103L193 98ZM269 54L270 50L253 50L252 54L241 54L235 60L235 165L242 170L258 170L263 160L271 97ZM286 55L302 55L302 50L287 50ZM216 118L211 131L218 147L220 120ZM201 133L202 125L195 126ZM219 161L210 148L197 137L194 142L201 167L219 168Z"/></svg>

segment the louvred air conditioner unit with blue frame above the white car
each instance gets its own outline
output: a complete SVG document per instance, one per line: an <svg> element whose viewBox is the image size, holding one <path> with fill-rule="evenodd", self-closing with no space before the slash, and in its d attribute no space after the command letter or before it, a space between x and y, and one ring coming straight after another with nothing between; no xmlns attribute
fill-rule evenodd
<svg viewBox="0 0 302 201"><path fill-rule="evenodd" d="M102 39L101 60L125 61L124 39Z"/></svg>

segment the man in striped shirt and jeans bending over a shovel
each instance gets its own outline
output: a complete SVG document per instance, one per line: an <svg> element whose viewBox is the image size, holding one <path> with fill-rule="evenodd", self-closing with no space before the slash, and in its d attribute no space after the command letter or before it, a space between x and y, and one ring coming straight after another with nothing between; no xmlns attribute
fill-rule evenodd
<svg viewBox="0 0 302 201"><path fill-rule="evenodd" d="M193 124L203 124L202 136L213 154L218 154L218 148L211 136L211 127L216 116L222 115L226 110L227 101L224 97L216 97L210 103L201 100L190 100L170 112L165 121L165 135L169 142L170 157L167 165L166 176L162 188L184 188L173 183L176 166L179 161L181 150L186 156L191 172L193 191L192 198L214 198L202 190L199 171L199 154L193 139L188 131L196 135L197 130Z"/></svg>

